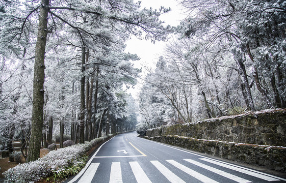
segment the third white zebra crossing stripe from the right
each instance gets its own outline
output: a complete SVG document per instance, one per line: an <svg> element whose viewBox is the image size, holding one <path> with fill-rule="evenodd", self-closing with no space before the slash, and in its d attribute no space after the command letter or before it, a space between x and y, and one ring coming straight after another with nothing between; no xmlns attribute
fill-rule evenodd
<svg viewBox="0 0 286 183"><path fill-rule="evenodd" d="M184 172L188 173L189 175L195 177L196 179L204 182L204 183L219 183L207 176L204 176L182 164L179 164L178 162L174 161L174 160L166 160L167 162L169 162L170 164L172 164L173 166L177 167L180 170L183 170Z"/></svg>

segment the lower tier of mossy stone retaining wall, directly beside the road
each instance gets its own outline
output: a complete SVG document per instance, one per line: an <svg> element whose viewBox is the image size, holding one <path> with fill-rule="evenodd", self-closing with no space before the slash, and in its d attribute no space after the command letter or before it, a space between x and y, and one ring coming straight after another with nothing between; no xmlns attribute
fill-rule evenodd
<svg viewBox="0 0 286 183"><path fill-rule="evenodd" d="M144 138L228 160L262 165L277 171L286 171L286 147L203 140L177 135L145 136Z"/></svg>

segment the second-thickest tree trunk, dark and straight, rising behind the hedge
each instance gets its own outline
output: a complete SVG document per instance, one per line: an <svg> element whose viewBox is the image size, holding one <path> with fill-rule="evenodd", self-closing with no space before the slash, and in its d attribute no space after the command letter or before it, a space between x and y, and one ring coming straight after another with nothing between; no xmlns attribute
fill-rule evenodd
<svg viewBox="0 0 286 183"><path fill-rule="evenodd" d="M82 48L82 79L81 79L81 117L79 143L85 143L85 56L86 49Z"/></svg>

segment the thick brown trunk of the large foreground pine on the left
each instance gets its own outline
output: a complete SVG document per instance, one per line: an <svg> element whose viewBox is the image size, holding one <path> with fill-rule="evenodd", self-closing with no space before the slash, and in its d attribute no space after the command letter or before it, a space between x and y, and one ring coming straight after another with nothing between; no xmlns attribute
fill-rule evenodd
<svg viewBox="0 0 286 183"><path fill-rule="evenodd" d="M29 143L28 162L40 157L43 130L45 47L47 38L47 20L49 0L41 0L39 27L36 43L33 85L32 131Z"/></svg>

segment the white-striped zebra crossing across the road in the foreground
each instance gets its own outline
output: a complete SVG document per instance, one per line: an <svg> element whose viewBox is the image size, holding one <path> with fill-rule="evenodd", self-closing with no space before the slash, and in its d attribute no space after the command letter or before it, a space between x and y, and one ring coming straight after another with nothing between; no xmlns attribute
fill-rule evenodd
<svg viewBox="0 0 286 183"><path fill-rule="evenodd" d="M220 182L220 180L214 180L207 175L203 175L196 171L195 167L199 167L202 169L206 169L207 171L211 171L212 173L219 174L232 182L242 182L248 183L252 182L251 178L255 177L260 179L263 182L271 182L271 181L286 181L286 179L270 175L267 173L259 172L256 170L248 169L245 167L241 167L238 165L229 164L226 162L222 162L219 160L209 159L209 158L199 158L198 160L191 160L191 159L184 159L184 161L178 160L164 160L163 162L159 161L149 161L150 166L153 166L155 170L158 170L164 177L166 177L169 182L172 183L183 183L186 182L182 177L176 175L172 170L176 169L178 171L184 172L188 174L190 177L195 178L198 182ZM184 163L182 163L184 162ZM138 183L151 183L152 181L149 179L148 175L145 173L144 168L140 166L140 162L137 161L130 161L128 162L132 173L134 174L136 181ZM87 168L86 172L83 176L79 179L78 182L92 182L92 179L95 176L96 171L100 168L100 163L91 163L90 166ZM214 166L211 166L214 165ZM99 167L99 168L98 168ZM216 168L215 168L216 167ZM222 170L223 169L223 170ZM110 183L122 183L122 171L129 171L129 170L122 170L121 162L112 162L110 167ZM228 172L226 172L228 171ZM177 172L177 171L175 171ZM243 173L243 177L239 177L235 175L233 172L240 172ZM180 174L181 175L181 174ZM150 175L149 175L150 176ZM250 180L248 180L250 179ZM260 182L260 181L256 181Z"/></svg>

